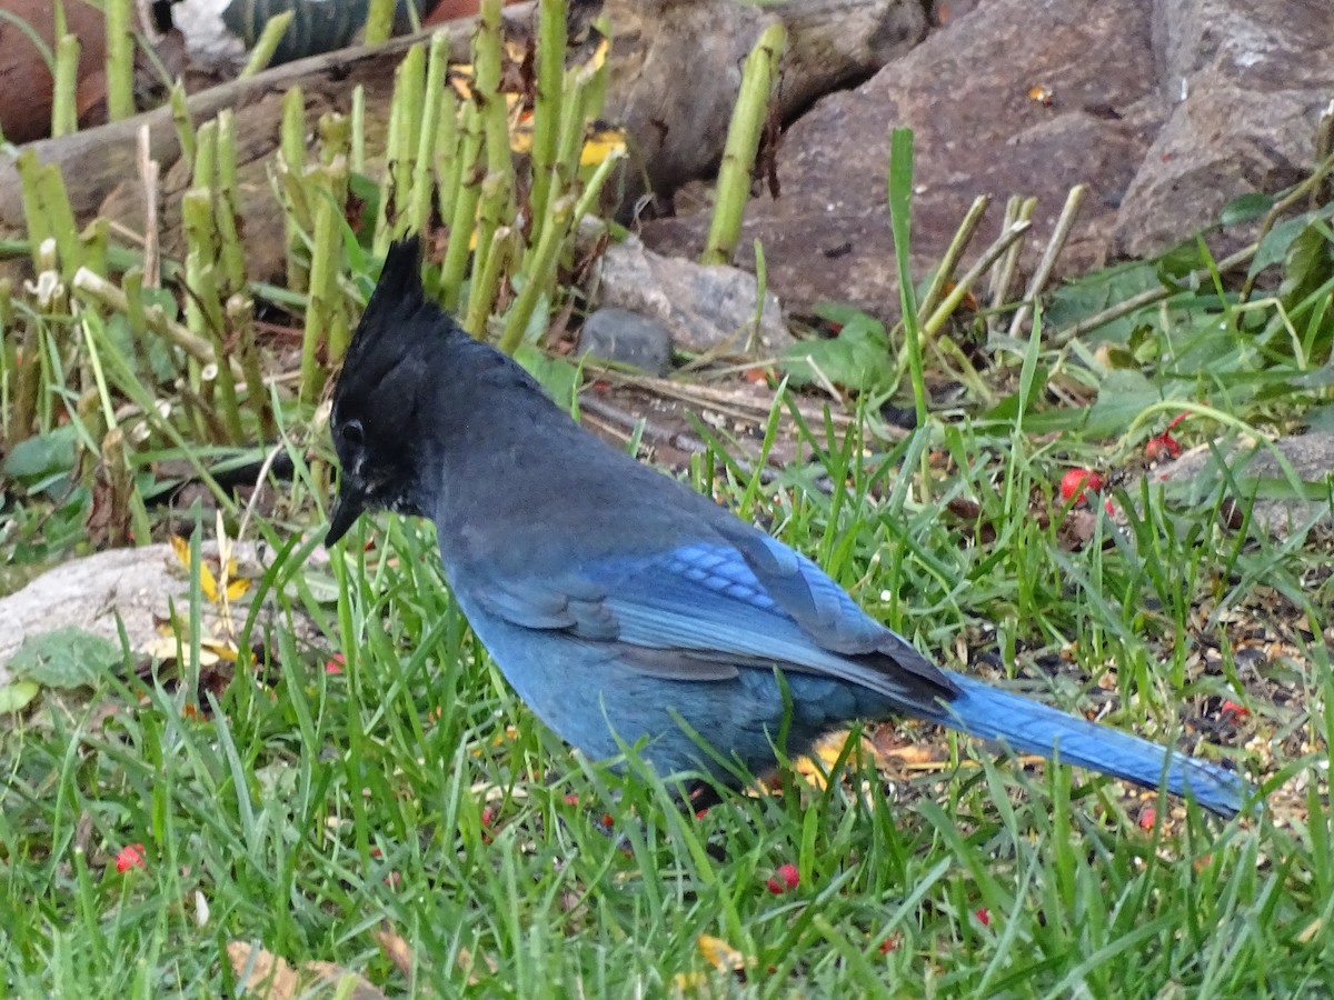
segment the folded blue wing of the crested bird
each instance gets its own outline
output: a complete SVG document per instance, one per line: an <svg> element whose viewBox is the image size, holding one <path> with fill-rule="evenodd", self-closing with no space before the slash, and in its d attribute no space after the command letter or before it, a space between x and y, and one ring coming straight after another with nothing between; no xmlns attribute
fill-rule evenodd
<svg viewBox="0 0 1334 1000"><path fill-rule="evenodd" d="M754 529L602 557L560 580L471 583L487 612L527 628L616 641L626 665L646 673L723 680L740 667L778 664L870 688L904 707L955 692L818 565Z"/></svg>

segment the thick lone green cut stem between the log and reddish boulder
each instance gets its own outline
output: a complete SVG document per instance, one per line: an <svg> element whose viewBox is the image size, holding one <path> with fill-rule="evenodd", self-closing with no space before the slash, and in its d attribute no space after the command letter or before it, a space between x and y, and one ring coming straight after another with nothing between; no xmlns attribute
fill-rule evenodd
<svg viewBox="0 0 1334 1000"><path fill-rule="evenodd" d="M768 101L778 75L778 60L787 44L787 28L771 24L746 57L736 109L727 129L723 161L718 171L714 217L700 255L703 264L731 264L742 232L742 216L750 200L751 172L759 137L768 117Z"/></svg>

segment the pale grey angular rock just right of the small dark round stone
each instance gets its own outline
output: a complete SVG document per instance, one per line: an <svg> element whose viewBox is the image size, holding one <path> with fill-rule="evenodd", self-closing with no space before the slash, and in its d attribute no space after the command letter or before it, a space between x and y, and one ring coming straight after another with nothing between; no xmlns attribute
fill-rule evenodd
<svg viewBox="0 0 1334 1000"><path fill-rule="evenodd" d="M754 339L758 295L755 276L739 268L664 257L630 237L598 261L592 297L599 307L656 320L671 332L676 351L736 356L746 355ZM754 351L770 356L791 343L783 307L766 292Z"/></svg>

